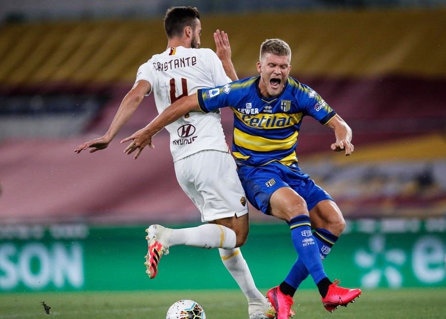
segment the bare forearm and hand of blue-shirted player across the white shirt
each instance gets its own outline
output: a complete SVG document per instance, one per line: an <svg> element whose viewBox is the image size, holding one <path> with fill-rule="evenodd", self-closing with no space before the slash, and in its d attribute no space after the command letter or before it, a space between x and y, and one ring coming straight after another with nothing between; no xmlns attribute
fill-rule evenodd
<svg viewBox="0 0 446 319"><path fill-rule="evenodd" d="M178 120L183 115L190 111L200 110L196 94L181 98L172 105L169 105L161 112L154 120L152 120L146 127L136 131L132 136L121 140L121 143L132 141L124 150L124 153L129 155L137 150L134 159L139 157L144 147L149 146L154 148L152 138L156 133L161 131L166 125Z"/></svg>

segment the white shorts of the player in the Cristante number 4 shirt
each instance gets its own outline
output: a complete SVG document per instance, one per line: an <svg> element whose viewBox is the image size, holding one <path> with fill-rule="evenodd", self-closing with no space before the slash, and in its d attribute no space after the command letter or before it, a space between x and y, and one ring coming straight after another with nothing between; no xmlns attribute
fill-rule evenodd
<svg viewBox="0 0 446 319"><path fill-rule="evenodd" d="M245 191L230 153L205 150L175 161L183 191L201 212L201 221L248 213Z"/></svg>

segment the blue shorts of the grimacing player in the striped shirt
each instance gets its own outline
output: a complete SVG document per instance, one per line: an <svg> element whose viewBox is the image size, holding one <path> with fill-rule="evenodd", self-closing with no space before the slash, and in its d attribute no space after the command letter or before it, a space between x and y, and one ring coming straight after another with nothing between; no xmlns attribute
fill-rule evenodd
<svg viewBox="0 0 446 319"><path fill-rule="evenodd" d="M256 167L240 166L237 172L252 206L266 215L271 215L269 210L271 194L281 187L291 187L305 199L309 211L322 200L333 200L310 179L310 175L303 173L297 166L291 168L279 162L271 162Z"/></svg>

